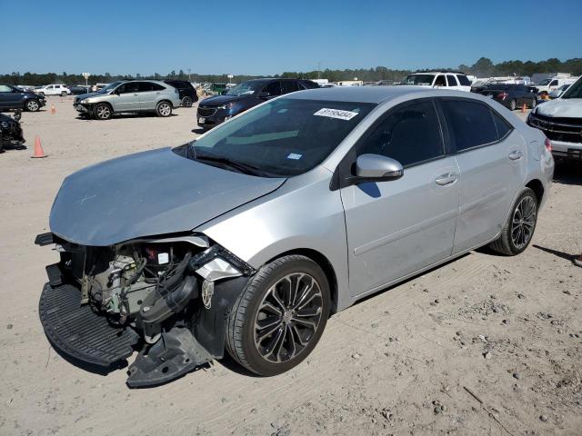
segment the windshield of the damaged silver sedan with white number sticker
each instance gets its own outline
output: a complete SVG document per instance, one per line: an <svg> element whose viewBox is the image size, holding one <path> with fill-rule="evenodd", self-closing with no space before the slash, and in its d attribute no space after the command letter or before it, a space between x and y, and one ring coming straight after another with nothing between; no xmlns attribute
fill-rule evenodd
<svg viewBox="0 0 582 436"><path fill-rule="evenodd" d="M279 98L216 127L191 143L187 155L256 175L305 173L323 162L375 105Z"/></svg>

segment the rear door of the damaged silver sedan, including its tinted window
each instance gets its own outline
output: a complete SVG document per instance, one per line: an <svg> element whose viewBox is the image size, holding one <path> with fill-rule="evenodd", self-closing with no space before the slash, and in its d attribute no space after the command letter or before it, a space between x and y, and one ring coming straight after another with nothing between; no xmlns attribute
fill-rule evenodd
<svg viewBox="0 0 582 436"><path fill-rule="evenodd" d="M491 241L501 231L526 174L523 138L483 102L438 100L461 174L454 253Z"/></svg>

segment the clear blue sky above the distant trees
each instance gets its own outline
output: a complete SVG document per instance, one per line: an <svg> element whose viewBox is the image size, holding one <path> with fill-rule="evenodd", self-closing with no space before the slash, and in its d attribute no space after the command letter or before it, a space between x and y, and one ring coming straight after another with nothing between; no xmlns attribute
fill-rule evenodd
<svg viewBox="0 0 582 436"><path fill-rule="evenodd" d="M276 74L582 56L580 0L0 0L0 73Z"/></svg>

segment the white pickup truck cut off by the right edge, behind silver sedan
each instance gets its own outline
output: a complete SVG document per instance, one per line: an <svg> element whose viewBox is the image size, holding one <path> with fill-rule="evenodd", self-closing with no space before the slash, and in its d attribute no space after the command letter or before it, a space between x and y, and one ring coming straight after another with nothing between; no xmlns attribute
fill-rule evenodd
<svg viewBox="0 0 582 436"><path fill-rule="evenodd" d="M582 77L559 98L537 105L527 124L546 134L555 159L582 161Z"/></svg>

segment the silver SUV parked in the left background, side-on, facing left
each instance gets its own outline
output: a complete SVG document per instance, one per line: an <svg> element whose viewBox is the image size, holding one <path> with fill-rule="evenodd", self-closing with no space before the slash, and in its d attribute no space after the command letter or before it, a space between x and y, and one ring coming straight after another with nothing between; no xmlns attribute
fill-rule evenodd
<svg viewBox="0 0 582 436"><path fill-rule="evenodd" d="M158 80L131 80L108 84L97 93L78 95L73 106L81 114L108 120L121 113L170 116L180 104L179 91L172 85Z"/></svg>

